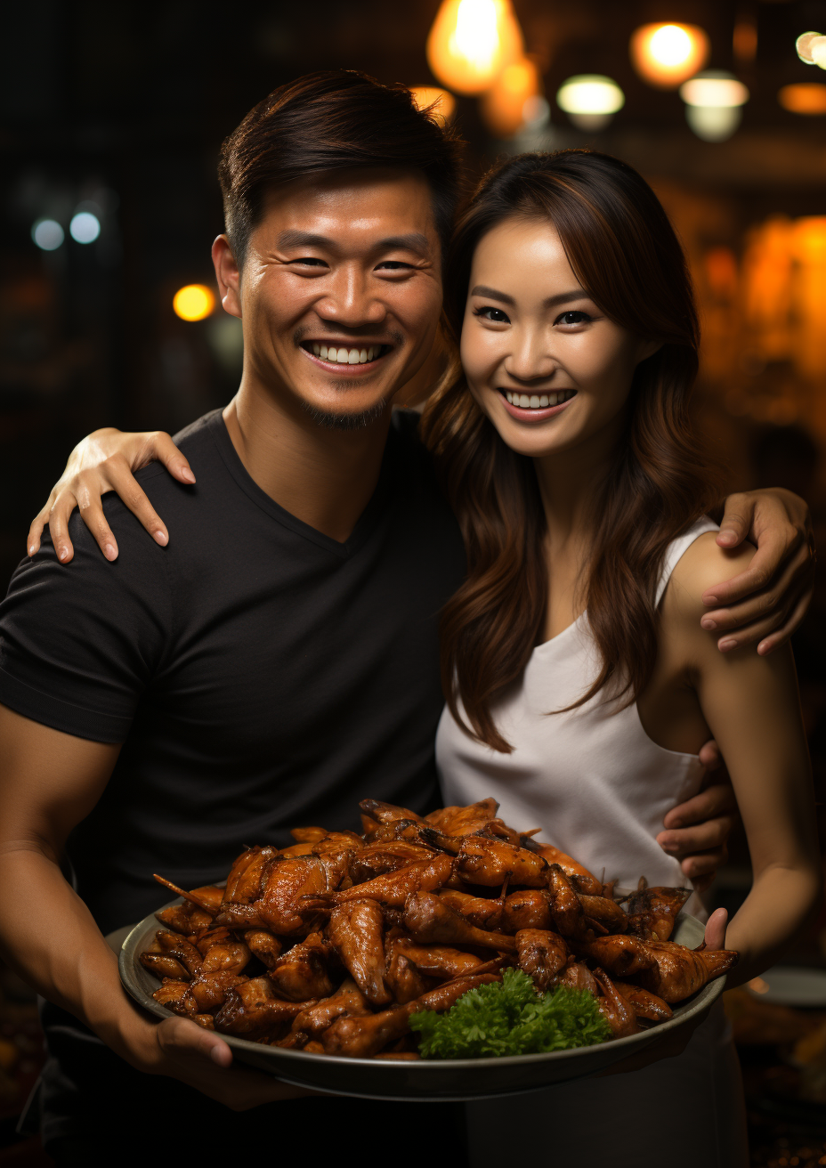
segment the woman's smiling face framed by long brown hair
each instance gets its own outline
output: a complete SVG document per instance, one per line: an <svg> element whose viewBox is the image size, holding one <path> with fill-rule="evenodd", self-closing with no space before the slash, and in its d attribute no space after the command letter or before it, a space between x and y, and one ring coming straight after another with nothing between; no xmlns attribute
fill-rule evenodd
<svg viewBox="0 0 826 1168"><path fill-rule="evenodd" d="M461 363L512 450L542 458L613 433L637 364L657 348L591 300L547 220L514 216L479 242Z"/></svg>

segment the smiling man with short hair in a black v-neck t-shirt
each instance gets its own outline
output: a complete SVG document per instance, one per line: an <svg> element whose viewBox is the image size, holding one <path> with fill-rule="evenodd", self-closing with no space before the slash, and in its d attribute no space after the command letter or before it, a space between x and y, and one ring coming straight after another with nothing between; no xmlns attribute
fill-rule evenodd
<svg viewBox="0 0 826 1168"><path fill-rule="evenodd" d="M276 1122L282 1153L287 1122L311 1147L301 1107L333 1104L231 1124L204 1096L241 1110L300 1092L133 1009L103 934L162 903L153 871L193 887L244 843L350 823L367 795L436 799L437 616L464 555L390 403L433 345L456 142L403 90L314 75L248 114L220 174L213 258L244 373L180 437L195 486L140 473L168 547L107 500L96 534L117 559L75 521L71 569L61 535L0 611L0 939L51 1003L42 1113L61 1163L90 1162L112 1113L143 1117L159 1150L189 1133L243 1150ZM372 1108L373 1135L388 1115Z"/></svg>

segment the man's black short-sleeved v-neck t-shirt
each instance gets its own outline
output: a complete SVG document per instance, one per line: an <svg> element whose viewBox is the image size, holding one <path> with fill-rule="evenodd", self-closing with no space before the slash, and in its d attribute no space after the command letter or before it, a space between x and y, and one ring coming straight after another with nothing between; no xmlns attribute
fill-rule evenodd
<svg viewBox="0 0 826 1168"><path fill-rule="evenodd" d="M117 562L75 516L72 563L46 541L0 605L0 702L124 744L68 846L103 932L168 899L155 871L192 888L290 827L358 826L360 799L436 798L438 613L465 557L415 430L391 429L343 544L256 486L220 412L179 444L195 486L138 474L167 548L107 495Z"/></svg>

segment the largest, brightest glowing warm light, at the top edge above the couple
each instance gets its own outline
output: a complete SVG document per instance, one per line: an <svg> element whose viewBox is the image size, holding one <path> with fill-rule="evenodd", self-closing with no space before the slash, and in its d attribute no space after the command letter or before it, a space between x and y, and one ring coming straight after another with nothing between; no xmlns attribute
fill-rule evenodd
<svg viewBox="0 0 826 1168"><path fill-rule="evenodd" d="M442 0L428 35L428 64L457 93L483 93L523 53L511 0Z"/></svg>

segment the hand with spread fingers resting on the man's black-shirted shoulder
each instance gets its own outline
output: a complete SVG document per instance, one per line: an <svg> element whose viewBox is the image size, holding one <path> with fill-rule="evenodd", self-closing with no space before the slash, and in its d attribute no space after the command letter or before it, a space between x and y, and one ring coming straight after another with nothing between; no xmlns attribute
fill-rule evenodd
<svg viewBox="0 0 826 1168"><path fill-rule="evenodd" d="M76 507L95 536L106 559L117 559L118 542L106 522L102 499L114 491L150 535L162 547L169 533L140 485L134 472L150 463L166 466L179 482L193 484L195 475L178 446L160 430L146 433L122 433L119 430L96 430L79 442L69 456L63 474L51 488L51 494L29 528L26 549L33 556L40 548L40 537L49 524L57 558L68 564L75 554L69 538L69 519Z"/></svg>

